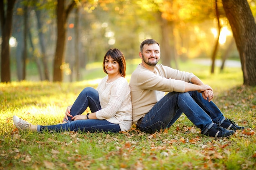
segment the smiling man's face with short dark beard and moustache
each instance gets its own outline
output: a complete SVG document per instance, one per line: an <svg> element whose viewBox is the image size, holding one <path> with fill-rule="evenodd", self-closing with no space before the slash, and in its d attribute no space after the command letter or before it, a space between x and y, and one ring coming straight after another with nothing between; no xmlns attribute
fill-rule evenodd
<svg viewBox="0 0 256 170"><path fill-rule="evenodd" d="M145 44L139 55L145 64L155 66L160 59L160 47L157 44Z"/></svg>

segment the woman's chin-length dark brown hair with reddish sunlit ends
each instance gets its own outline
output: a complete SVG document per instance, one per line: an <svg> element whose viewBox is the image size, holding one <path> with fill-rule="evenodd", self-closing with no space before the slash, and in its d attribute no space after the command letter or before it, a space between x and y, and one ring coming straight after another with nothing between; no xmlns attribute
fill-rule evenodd
<svg viewBox="0 0 256 170"><path fill-rule="evenodd" d="M104 65L105 65L106 57L108 57L108 56L111 57L113 60L117 61L117 63L119 64L119 68L120 68L119 71L120 71L121 75L123 77L125 77L126 76L126 62L125 62L124 54L119 49L109 49L104 56L103 64L102 64L103 71L105 73L107 73L107 71L106 71Z"/></svg>

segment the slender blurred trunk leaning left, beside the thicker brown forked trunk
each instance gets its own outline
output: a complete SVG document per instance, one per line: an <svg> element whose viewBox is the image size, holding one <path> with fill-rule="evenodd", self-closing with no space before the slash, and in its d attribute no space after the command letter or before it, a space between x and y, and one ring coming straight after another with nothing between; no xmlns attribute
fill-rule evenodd
<svg viewBox="0 0 256 170"><path fill-rule="evenodd" d="M41 21L41 12L39 10L36 10L36 18L37 18L37 27L38 27L38 38L39 38L41 53L42 53L44 77L46 80L49 81L50 78L49 78L49 68L48 68L48 64L47 64L47 56L46 56L46 50L45 50L45 38L43 35L43 26L42 26L43 24Z"/></svg>

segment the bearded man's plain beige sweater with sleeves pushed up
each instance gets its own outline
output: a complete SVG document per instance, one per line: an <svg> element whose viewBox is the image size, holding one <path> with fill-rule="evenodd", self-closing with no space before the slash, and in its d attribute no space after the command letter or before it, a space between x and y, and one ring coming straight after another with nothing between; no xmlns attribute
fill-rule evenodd
<svg viewBox="0 0 256 170"><path fill-rule="evenodd" d="M193 73L182 72L157 64L155 73L138 65L131 75L130 88L132 99L132 119L137 121L164 97L165 92L185 91L185 82L190 82Z"/></svg>

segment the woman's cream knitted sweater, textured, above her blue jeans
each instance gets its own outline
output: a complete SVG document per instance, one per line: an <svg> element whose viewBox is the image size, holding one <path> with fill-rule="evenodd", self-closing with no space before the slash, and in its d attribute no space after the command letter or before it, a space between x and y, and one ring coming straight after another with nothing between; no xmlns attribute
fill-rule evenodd
<svg viewBox="0 0 256 170"><path fill-rule="evenodd" d="M132 126L130 86L124 77L110 83L107 83L107 80L108 75L101 80L97 87L101 110L96 112L96 117L119 124L121 131L130 130Z"/></svg>

